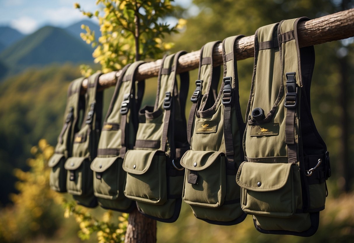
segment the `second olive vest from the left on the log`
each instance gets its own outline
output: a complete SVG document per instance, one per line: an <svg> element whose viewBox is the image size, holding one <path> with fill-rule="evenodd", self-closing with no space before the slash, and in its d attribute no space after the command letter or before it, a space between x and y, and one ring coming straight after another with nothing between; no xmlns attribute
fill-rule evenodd
<svg viewBox="0 0 354 243"><path fill-rule="evenodd" d="M97 199L93 195L90 169L96 157L97 144L101 133L102 91L97 91L98 78L101 74L91 75L87 82L84 119L80 130L74 134L72 156L65 162L67 170L67 191L76 202L85 207L96 207Z"/></svg>

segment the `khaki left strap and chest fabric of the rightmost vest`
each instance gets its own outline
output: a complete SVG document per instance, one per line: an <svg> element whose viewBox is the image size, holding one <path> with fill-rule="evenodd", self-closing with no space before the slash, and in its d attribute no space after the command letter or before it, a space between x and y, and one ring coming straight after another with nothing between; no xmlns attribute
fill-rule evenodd
<svg viewBox="0 0 354 243"><path fill-rule="evenodd" d="M273 29L277 24L258 29L258 42L273 40ZM250 113L256 107L261 107L265 115L272 109L278 98L281 83L280 53L278 49L265 49L258 52L257 70L251 97ZM273 65L269 65L273 63ZM274 85L276 84L276 85ZM283 86L284 87L284 86ZM250 158L286 156L285 145L285 98L281 98L270 123L279 124L279 135L251 137L251 126L247 125L244 136L245 156ZM259 149L262 148L262 149Z"/></svg>

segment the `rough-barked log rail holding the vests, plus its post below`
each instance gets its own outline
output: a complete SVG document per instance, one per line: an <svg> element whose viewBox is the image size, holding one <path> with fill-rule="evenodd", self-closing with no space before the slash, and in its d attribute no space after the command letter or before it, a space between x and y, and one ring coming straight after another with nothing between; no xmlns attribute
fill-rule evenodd
<svg viewBox="0 0 354 243"><path fill-rule="evenodd" d="M235 33L238 34L238 33ZM329 41L346 39L354 36L354 9L341 11L324 17L299 23L298 26L300 47L318 45ZM254 35L245 36L236 43L238 60L254 56ZM214 50L215 66L222 64L222 46ZM137 80L143 80L158 75L162 60L142 64L138 68ZM178 60L177 73L198 68L199 51L194 51L181 56ZM120 71L101 75L99 78L100 89L115 85ZM87 87L84 80L83 87ZM129 216L129 225L125 238L126 243L153 243L156 242L156 221L133 211Z"/></svg>

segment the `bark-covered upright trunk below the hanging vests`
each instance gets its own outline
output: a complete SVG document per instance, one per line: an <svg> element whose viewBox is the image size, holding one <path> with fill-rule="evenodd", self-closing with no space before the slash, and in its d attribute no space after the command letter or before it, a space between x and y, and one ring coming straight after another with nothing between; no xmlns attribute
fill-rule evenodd
<svg viewBox="0 0 354 243"><path fill-rule="evenodd" d="M155 243L156 220L145 217L137 209L129 214L125 243Z"/></svg>

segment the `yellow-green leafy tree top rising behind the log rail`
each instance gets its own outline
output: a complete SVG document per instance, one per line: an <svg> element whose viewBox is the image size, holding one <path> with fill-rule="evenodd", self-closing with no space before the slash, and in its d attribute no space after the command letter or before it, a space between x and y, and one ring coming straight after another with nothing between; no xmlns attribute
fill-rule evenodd
<svg viewBox="0 0 354 243"><path fill-rule="evenodd" d="M82 25L86 33L81 38L87 44L96 47L93 52L95 62L100 63L102 72L119 70L127 63L146 58L159 58L172 47L172 43L163 43L165 34L176 33L177 25L170 27L161 23L161 19L172 11L171 2L146 0L97 0L103 5L102 11L85 12L79 4L74 7L84 15L98 18L102 36L95 40L95 32ZM88 74L89 68L83 67L82 73Z"/></svg>

